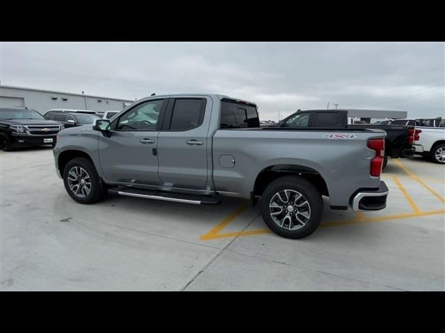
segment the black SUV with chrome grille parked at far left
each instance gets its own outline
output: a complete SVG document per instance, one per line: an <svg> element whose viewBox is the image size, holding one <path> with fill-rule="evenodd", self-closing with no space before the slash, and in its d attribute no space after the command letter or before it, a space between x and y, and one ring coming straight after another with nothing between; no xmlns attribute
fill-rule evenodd
<svg viewBox="0 0 445 333"><path fill-rule="evenodd" d="M56 144L56 135L63 126L44 119L29 108L0 108L0 149L12 151L25 146Z"/></svg>

